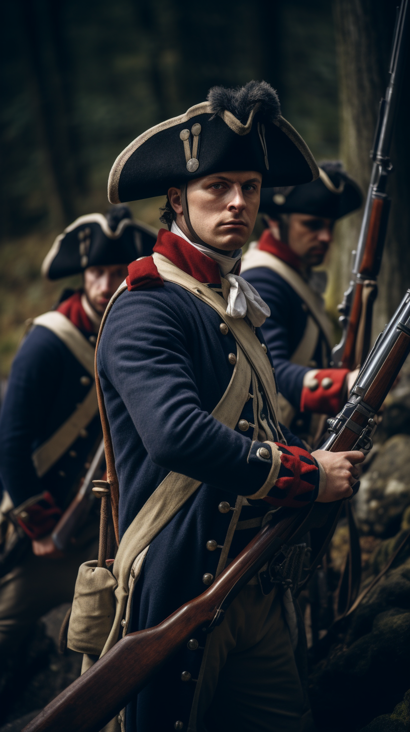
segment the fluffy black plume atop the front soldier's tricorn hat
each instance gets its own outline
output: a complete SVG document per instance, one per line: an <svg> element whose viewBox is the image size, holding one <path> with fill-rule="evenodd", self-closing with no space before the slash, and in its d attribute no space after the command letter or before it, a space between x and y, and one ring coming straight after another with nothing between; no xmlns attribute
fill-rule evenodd
<svg viewBox="0 0 410 732"><path fill-rule="evenodd" d="M212 86L206 99L211 103L215 115L227 110L242 124L247 122L250 112L258 102L261 102L261 110L265 111L270 122L275 122L280 117L277 93L266 81L248 81L245 86L237 86L236 89Z"/></svg>

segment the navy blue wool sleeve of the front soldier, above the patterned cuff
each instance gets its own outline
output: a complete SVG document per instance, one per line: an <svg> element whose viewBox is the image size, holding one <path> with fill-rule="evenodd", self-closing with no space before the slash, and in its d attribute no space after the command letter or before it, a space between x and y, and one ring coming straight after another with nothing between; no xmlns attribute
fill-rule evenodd
<svg viewBox="0 0 410 732"><path fill-rule="evenodd" d="M153 463L249 496L264 485L270 466L249 463L250 438L211 416L230 376L227 371L219 395L216 387L209 389L211 403L206 373L217 373L228 360L209 364L212 348L198 337L190 310L178 305L167 299L166 286L124 293L117 300L98 350L101 384L103 389L113 386L121 397Z"/></svg>

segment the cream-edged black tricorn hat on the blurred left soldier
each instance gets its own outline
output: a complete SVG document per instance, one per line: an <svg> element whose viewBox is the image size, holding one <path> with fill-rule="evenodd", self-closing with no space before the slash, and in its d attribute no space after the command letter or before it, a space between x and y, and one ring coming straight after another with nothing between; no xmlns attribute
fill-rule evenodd
<svg viewBox="0 0 410 732"><path fill-rule="evenodd" d="M87 267L130 264L152 254L157 231L133 219L128 206L112 206L103 214L76 219L57 236L42 263L42 275L49 280L77 275Z"/></svg>

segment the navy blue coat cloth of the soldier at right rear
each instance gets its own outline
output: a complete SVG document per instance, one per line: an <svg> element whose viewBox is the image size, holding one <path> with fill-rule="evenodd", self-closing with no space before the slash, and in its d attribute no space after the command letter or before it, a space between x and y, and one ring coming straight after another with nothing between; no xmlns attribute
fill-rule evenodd
<svg viewBox="0 0 410 732"><path fill-rule="evenodd" d="M270 316L266 318L261 330L275 366L277 386L291 405L299 409L303 377L312 367L293 364L290 359L305 332L308 315L305 303L291 285L276 272L272 272L272 269L255 267L247 269L241 276L253 285L269 305ZM328 348L324 336L320 335L312 356L317 368L326 366L323 362L322 339L326 344L325 352Z"/></svg>

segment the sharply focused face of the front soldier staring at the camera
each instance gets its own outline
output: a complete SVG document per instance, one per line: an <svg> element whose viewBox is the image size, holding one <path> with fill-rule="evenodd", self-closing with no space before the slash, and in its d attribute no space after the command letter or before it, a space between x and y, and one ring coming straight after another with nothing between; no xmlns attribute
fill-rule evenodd
<svg viewBox="0 0 410 732"><path fill-rule="evenodd" d="M190 181L187 201L191 224L201 239L224 251L240 249L253 231L261 195L261 173L234 171ZM170 188L168 198L176 223L190 238L181 206L181 190Z"/></svg>

